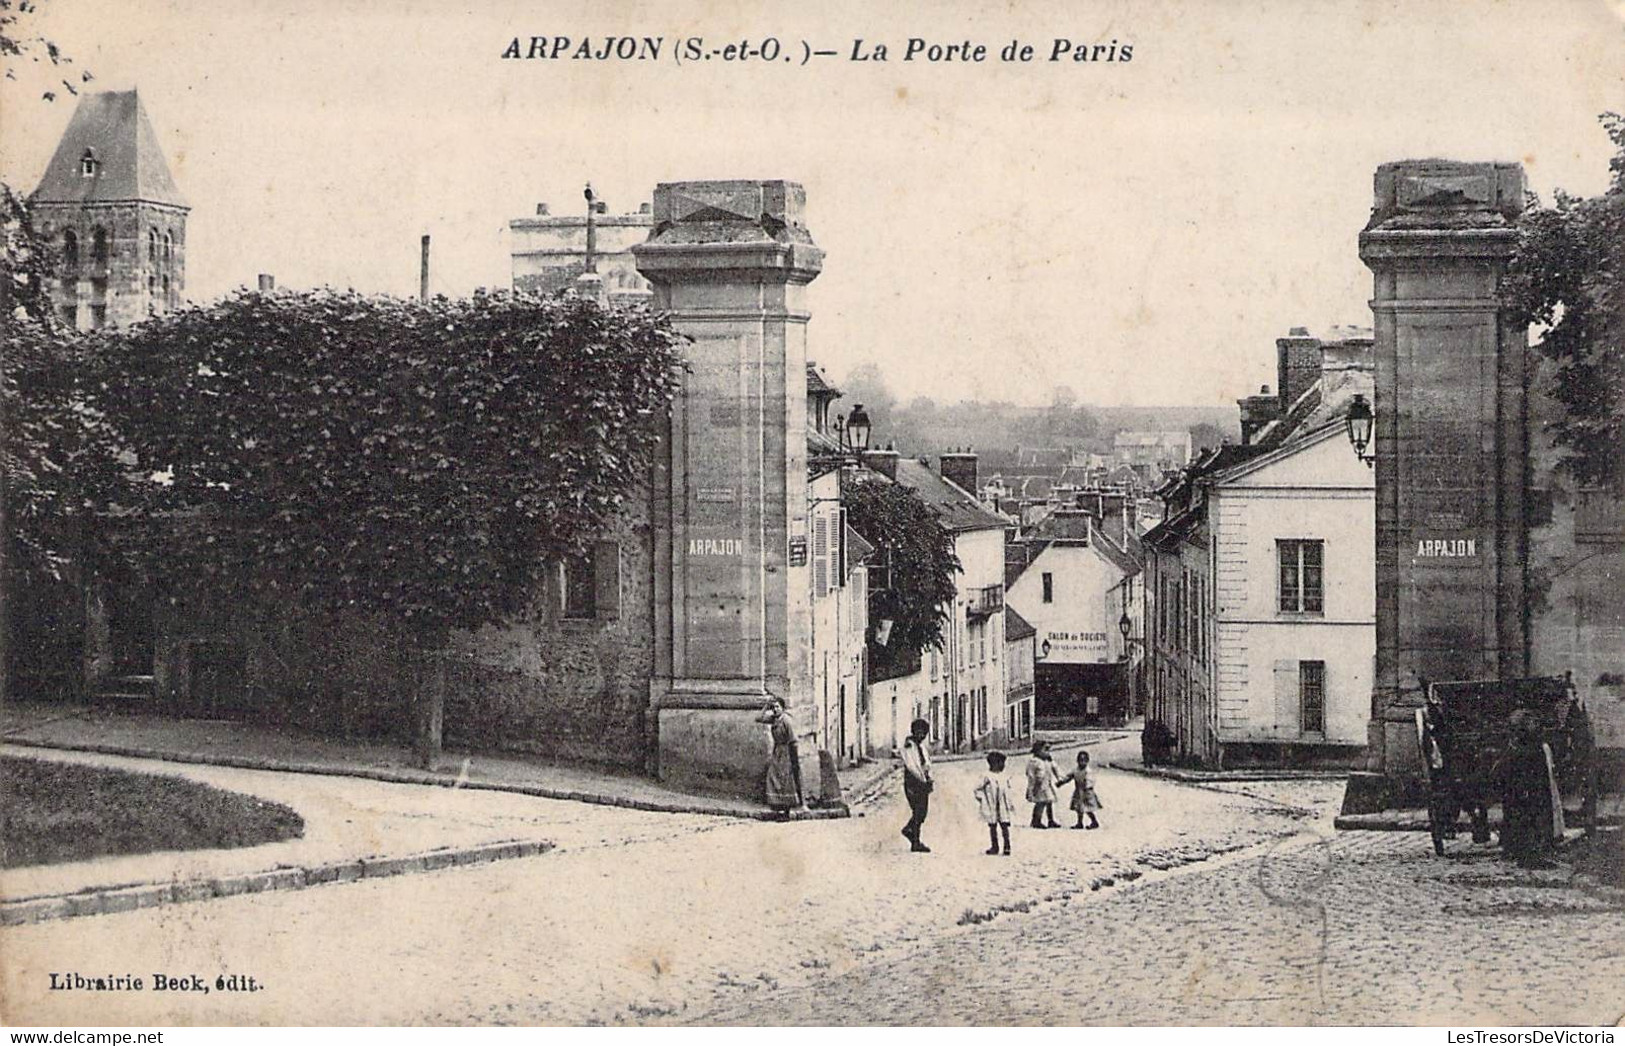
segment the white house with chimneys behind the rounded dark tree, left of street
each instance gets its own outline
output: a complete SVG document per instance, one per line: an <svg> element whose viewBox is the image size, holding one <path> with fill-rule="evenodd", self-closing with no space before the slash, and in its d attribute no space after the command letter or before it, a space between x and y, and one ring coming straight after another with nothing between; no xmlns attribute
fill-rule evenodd
<svg viewBox="0 0 1625 1046"><path fill-rule="evenodd" d="M931 744L965 752L1001 744L1008 736L1004 658L1004 529L1009 520L991 512L972 491L977 455L951 452L933 471L923 460L895 450L863 455L864 482L897 482L936 510L954 538L962 572L952 606L942 611L944 645L921 653L913 671L869 682L869 747L899 749L908 724L931 724ZM881 567L884 572L884 567ZM876 581L878 585L882 581Z"/></svg>

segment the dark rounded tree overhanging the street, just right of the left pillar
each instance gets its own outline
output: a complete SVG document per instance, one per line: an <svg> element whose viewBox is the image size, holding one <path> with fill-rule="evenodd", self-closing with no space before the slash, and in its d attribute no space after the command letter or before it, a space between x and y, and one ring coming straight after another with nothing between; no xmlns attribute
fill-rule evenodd
<svg viewBox="0 0 1625 1046"><path fill-rule="evenodd" d="M842 504L852 529L874 546L871 564L879 565L871 578L881 583L869 586L871 677L907 676L923 650L942 648L946 607L960 572L954 536L913 491L878 476L843 478Z"/></svg>

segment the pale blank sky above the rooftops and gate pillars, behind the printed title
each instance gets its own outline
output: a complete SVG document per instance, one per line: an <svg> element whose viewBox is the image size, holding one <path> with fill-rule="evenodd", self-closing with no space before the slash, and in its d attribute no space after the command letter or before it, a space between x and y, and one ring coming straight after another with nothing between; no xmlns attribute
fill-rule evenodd
<svg viewBox="0 0 1625 1046"><path fill-rule="evenodd" d="M192 205L187 296L510 286L507 223L656 182L788 179L826 250L809 356L904 400L1227 404L1290 326L1370 325L1357 234L1394 159L1523 161L1604 188L1625 0L663 3L44 0L89 88L138 88ZM881 8L884 10L871 10ZM665 37L652 62L504 60L522 39ZM775 37L790 62L678 63ZM904 62L910 37L983 44ZM1048 62L1056 37L1129 62ZM887 62L853 62L855 41ZM803 41L835 50L803 65ZM1035 60L999 62L1011 41ZM31 190L72 115L0 86Z"/></svg>

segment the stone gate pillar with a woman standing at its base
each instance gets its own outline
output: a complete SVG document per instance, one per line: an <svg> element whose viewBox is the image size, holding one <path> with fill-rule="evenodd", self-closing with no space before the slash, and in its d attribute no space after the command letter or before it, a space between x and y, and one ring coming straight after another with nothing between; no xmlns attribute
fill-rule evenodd
<svg viewBox="0 0 1625 1046"><path fill-rule="evenodd" d="M806 287L824 257L804 201L793 182L661 184L632 249L694 339L652 502L655 772L686 788L760 797L769 697L800 723L817 788L811 591L788 554L806 533Z"/></svg>

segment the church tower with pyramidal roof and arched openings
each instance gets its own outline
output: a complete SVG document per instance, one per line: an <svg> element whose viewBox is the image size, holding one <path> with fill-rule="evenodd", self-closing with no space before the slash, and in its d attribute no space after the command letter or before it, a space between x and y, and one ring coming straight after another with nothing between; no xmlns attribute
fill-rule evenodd
<svg viewBox="0 0 1625 1046"><path fill-rule="evenodd" d="M80 99L29 205L57 249L65 325L128 326L180 304L190 208L135 91Z"/></svg>

